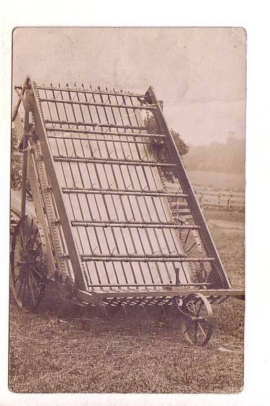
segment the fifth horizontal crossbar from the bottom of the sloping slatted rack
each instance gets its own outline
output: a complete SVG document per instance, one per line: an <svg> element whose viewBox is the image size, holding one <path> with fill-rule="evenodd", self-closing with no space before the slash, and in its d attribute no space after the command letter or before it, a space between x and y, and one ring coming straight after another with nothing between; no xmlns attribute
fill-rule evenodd
<svg viewBox="0 0 270 406"><path fill-rule="evenodd" d="M96 164L115 164L115 165L138 165L142 167L173 167L175 168L175 164L167 164L167 163L158 163L158 162L144 162L139 160L121 160L115 158L107 158L107 159L100 159L100 158L85 158L83 156L54 156L55 162L82 162L82 163L89 163L95 162ZM175 195L175 193L172 193Z"/></svg>

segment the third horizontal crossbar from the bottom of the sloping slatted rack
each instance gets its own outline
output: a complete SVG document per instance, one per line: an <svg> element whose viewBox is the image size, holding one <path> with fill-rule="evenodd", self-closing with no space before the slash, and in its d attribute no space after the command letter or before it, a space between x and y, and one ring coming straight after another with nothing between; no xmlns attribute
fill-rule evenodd
<svg viewBox="0 0 270 406"><path fill-rule="evenodd" d="M106 222L102 220L72 220L72 226L76 227L122 227L122 228L176 228L177 230L182 229L196 229L199 226L191 226L186 224L175 224L175 223L160 223L160 222Z"/></svg>

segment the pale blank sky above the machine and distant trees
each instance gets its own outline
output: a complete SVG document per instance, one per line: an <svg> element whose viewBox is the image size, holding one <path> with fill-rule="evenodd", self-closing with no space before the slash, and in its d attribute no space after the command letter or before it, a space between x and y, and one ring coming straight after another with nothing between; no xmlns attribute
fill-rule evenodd
<svg viewBox="0 0 270 406"><path fill-rule="evenodd" d="M153 85L188 145L245 137L243 28L16 28L12 72L14 85Z"/></svg>

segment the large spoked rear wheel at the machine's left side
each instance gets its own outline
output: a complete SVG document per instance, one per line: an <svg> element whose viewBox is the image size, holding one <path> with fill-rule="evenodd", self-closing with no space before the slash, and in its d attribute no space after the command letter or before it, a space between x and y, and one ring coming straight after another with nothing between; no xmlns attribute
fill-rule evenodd
<svg viewBox="0 0 270 406"><path fill-rule="evenodd" d="M25 216L15 228L10 255L12 291L20 308L34 310L40 303L45 292L45 259L41 226Z"/></svg>

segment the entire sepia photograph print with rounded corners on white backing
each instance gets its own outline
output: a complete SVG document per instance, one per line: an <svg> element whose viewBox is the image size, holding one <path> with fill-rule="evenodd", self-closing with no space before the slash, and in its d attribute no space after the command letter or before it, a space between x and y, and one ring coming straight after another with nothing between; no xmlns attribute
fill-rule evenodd
<svg viewBox="0 0 270 406"><path fill-rule="evenodd" d="M244 387L244 28L16 28L11 392Z"/></svg>

